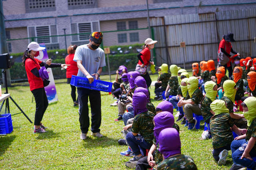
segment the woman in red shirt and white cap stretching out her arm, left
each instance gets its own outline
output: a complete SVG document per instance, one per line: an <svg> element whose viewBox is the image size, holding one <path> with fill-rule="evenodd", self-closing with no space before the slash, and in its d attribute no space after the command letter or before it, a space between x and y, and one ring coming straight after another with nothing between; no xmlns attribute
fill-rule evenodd
<svg viewBox="0 0 256 170"><path fill-rule="evenodd" d="M46 127L42 125L42 118L44 112L48 107L48 99L44 90L44 82L40 77L39 70L41 66L45 68L53 67L65 67L66 64L55 64L52 63L52 59L48 59L46 63L34 58L39 55L39 51L44 50L45 47L40 47L38 43L31 42L28 48L23 54L22 63L25 66L26 73L28 76L28 83L30 86L30 91L34 95L36 101L36 113L34 120L34 133L44 133Z"/></svg>

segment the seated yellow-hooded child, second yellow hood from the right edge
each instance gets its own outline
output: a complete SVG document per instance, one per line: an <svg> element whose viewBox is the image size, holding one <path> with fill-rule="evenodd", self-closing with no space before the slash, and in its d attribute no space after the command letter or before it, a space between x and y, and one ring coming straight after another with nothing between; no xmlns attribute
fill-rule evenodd
<svg viewBox="0 0 256 170"><path fill-rule="evenodd" d="M236 95L236 83L232 80L226 80L223 83L224 96L221 100L224 100L227 104L230 117L233 118L234 124L241 129L247 129L247 121L244 118L244 115L234 113L233 106L235 102Z"/></svg>

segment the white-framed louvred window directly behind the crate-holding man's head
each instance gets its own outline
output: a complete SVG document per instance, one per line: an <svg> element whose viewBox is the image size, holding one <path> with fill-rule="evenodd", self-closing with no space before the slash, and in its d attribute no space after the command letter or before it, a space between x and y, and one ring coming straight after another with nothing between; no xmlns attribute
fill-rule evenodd
<svg viewBox="0 0 256 170"><path fill-rule="evenodd" d="M95 31L100 31L99 21L90 21L83 23L71 23L72 42L74 41L89 41L90 34Z"/></svg>

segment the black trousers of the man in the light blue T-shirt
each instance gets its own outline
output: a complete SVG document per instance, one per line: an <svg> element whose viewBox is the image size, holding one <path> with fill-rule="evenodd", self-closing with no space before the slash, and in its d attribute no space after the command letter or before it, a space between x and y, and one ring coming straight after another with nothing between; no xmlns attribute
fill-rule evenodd
<svg viewBox="0 0 256 170"><path fill-rule="evenodd" d="M86 88L77 88L79 100L79 122L82 133L87 133L90 126L88 97L92 114L92 133L100 132L101 124L101 98L100 91Z"/></svg>

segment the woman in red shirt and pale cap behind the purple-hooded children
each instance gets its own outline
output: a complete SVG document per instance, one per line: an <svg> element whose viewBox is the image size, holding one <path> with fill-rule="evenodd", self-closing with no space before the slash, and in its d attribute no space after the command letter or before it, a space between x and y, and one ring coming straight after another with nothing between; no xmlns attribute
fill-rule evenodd
<svg viewBox="0 0 256 170"><path fill-rule="evenodd" d="M144 43L145 43L145 45L144 45L142 51L137 55L139 61L138 61L138 64L136 65L136 71L139 71L139 72L140 72L140 70L137 70L139 67L147 68L149 64L154 64L153 61L150 61L150 57L151 57L150 50L154 48L154 45L155 45L155 43L157 43L157 41L154 41L151 38L147 38L144 41ZM140 74L146 80L147 86L150 87L152 80L151 80L147 70L143 74L142 74L142 72L140 72Z"/></svg>

